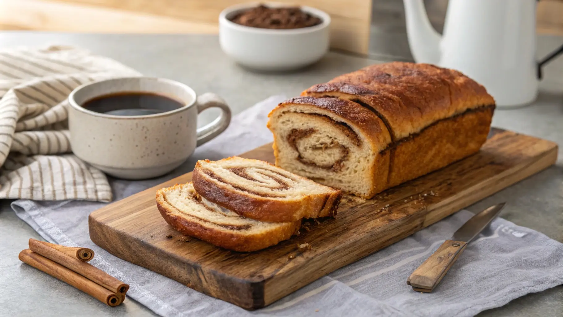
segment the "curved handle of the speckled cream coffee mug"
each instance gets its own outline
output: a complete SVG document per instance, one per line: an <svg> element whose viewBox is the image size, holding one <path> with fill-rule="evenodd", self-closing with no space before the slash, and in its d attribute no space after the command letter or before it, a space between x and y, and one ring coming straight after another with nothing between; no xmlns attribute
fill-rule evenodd
<svg viewBox="0 0 563 317"><path fill-rule="evenodd" d="M198 96L196 104L198 106L198 114L207 108L217 107L221 109L219 117L198 129L198 142L196 146L200 146L225 131L231 122L231 108L229 108L225 100L211 92Z"/></svg>

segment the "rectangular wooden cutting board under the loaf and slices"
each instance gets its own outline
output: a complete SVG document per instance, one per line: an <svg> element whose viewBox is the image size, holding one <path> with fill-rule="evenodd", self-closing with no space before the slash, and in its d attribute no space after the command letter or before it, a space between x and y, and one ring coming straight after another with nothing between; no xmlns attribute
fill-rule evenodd
<svg viewBox="0 0 563 317"><path fill-rule="evenodd" d="M274 161L271 144L241 156ZM336 218L251 253L215 247L166 224L155 204L155 191L190 181L187 173L92 212L90 238L123 260L253 310L533 175L556 159L553 142L493 130L479 153L374 199L344 202ZM303 243L312 249L300 251L297 244Z"/></svg>

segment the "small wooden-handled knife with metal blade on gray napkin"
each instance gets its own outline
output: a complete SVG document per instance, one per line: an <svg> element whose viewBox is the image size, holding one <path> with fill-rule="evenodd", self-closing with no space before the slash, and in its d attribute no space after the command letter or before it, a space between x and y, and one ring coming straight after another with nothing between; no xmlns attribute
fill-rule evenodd
<svg viewBox="0 0 563 317"><path fill-rule="evenodd" d="M448 270L465 247L471 242L491 221L501 213L504 204L491 206L477 213L455 231L451 240L446 240L421 266L414 270L413 274L406 280L406 284L413 287L417 292L432 292L432 290L448 273Z"/></svg>

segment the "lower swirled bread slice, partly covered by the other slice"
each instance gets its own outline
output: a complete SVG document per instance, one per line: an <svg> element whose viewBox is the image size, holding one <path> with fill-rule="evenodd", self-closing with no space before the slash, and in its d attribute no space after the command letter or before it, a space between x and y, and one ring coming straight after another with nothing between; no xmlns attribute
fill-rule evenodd
<svg viewBox="0 0 563 317"><path fill-rule="evenodd" d="M192 183L157 191L160 215L182 234L234 251L250 252L289 239L301 226L293 222L261 222L209 202Z"/></svg>

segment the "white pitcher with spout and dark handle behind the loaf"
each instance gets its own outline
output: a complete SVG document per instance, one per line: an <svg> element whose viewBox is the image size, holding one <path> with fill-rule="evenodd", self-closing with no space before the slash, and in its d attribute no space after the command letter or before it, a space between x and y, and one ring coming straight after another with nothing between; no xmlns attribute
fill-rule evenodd
<svg viewBox="0 0 563 317"><path fill-rule="evenodd" d="M485 86L497 106L533 102L542 66L563 51L536 61L537 0L450 0L443 36L423 0L403 2L414 60L459 70Z"/></svg>

